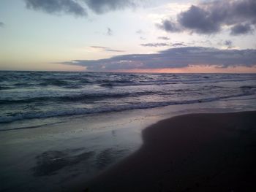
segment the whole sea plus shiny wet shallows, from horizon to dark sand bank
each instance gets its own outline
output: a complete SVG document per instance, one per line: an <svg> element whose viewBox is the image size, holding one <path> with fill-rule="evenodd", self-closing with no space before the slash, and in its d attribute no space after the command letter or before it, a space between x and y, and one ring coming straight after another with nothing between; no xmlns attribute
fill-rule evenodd
<svg viewBox="0 0 256 192"><path fill-rule="evenodd" d="M175 115L256 110L256 74L0 72L0 191L72 191Z"/></svg>

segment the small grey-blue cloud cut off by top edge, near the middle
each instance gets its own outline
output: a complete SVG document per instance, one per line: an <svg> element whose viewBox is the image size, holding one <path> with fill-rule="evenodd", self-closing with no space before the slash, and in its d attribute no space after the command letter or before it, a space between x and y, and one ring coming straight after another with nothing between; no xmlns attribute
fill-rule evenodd
<svg viewBox="0 0 256 192"><path fill-rule="evenodd" d="M97 14L104 12L135 7L135 2L131 0L84 0L87 6Z"/></svg>

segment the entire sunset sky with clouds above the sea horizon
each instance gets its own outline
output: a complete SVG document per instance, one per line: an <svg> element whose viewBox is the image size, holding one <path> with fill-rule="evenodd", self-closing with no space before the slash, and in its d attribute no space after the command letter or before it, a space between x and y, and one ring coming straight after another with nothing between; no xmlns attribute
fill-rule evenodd
<svg viewBox="0 0 256 192"><path fill-rule="evenodd" d="M255 73L255 29L255 0L1 0L0 70Z"/></svg>

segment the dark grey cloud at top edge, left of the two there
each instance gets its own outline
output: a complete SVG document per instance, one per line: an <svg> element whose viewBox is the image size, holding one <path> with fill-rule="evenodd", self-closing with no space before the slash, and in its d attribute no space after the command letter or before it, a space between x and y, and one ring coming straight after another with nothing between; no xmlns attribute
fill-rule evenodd
<svg viewBox="0 0 256 192"><path fill-rule="evenodd" d="M40 10L50 14L67 13L87 16L86 9L75 0L24 0L28 9Z"/></svg>

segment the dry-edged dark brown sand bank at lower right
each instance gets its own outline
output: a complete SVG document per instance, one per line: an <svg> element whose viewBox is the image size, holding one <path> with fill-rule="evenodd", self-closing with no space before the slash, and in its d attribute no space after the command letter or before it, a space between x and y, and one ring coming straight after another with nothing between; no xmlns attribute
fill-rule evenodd
<svg viewBox="0 0 256 192"><path fill-rule="evenodd" d="M256 112L181 115L78 191L256 191Z"/></svg>

